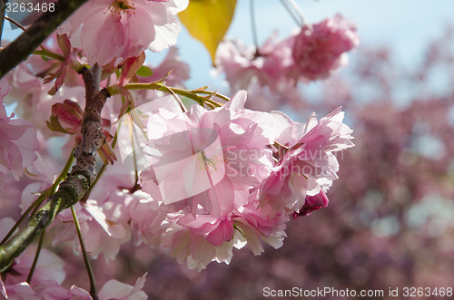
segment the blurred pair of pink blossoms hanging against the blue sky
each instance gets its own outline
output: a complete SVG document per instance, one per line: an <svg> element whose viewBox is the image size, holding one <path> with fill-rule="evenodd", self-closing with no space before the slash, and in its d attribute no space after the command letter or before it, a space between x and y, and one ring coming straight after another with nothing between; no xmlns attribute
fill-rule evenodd
<svg viewBox="0 0 454 300"><path fill-rule="evenodd" d="M298 81L329 78L348 62L347 52L359 44L355 24L335 15L318 24L305 24L298 34L282 41L276 41L273 34L257 49L224 41L216 64L233 89L248 89L259 82L281 92Z"/></svg>

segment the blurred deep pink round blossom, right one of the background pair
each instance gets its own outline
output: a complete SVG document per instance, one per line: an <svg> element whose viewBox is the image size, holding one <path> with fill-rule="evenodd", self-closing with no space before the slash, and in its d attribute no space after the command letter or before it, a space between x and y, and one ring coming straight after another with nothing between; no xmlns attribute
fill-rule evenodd
<svg viewBox="0 0 454 300"><path fill-rule="evenodd" d="M295 37L292 57L302 77L326 79L348 62L346 53L359 44L356 26L335 15L319 24L303 26Z"/></svg>

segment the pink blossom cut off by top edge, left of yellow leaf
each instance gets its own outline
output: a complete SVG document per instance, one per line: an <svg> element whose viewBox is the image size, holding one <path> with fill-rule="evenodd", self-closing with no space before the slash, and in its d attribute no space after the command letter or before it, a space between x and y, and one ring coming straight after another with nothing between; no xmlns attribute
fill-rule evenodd
<svg viewBox="0 0 454 300"><path fill-rule="evenodd" d="M88 63L121 63L150 48L175 44L180 24L175 15L188 0L92 0L72 15L60 31L84 49Z"/></svg>

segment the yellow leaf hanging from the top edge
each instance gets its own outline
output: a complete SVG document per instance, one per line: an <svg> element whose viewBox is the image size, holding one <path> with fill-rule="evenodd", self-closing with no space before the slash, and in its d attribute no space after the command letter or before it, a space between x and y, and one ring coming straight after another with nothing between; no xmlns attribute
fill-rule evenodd
<svg viewBox="0 0 454 300"><path fill-rule="evenodd" d="M189 33L214 55L232 23L236 0L191 0L179 14Z"/></svg>

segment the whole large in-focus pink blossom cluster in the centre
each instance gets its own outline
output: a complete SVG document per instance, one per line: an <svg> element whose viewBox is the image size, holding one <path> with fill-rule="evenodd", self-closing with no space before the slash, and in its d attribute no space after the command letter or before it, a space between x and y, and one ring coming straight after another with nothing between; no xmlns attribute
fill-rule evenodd
<svg viewBox="0 0 454 300"><path fill-rule="evenodd" d="M260 240L281 247L291 216L328 206L335 153L353 146L341 108L301 124L245 102L242 91L212 111L175 107L148 119L143 153L151 167L140 183L151 199L140 205L153 214L137 228L190 268L229 263L232 247L246 244L260 255Z"/></svg>

